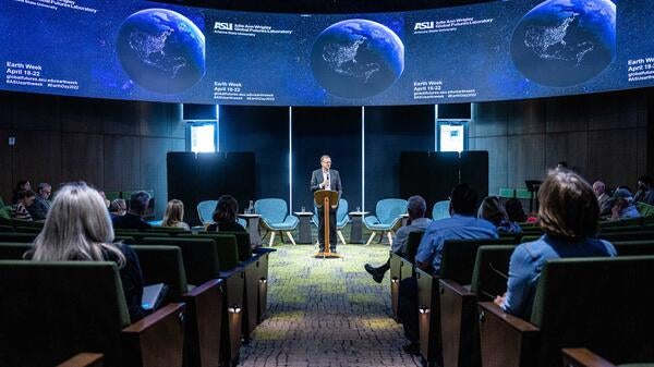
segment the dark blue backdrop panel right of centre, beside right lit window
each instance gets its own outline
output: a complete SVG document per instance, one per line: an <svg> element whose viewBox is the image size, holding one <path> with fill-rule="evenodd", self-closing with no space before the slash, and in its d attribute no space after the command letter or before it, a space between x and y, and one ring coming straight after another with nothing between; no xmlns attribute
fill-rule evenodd
<svg viewBox="0 0 654 367"><path fill-rule="evenodd" d="M409 193L420 194L410 184L401 189L400 152L424 151L426 156L434 150L434 105L365 108L366 210L374 211L383 198L407 199ZM414 167L415 173L426 168Z"/></svg>

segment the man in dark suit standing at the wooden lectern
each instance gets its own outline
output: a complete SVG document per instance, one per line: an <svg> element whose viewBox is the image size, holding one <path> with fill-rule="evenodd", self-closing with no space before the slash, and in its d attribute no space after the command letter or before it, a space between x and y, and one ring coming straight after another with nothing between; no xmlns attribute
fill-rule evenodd
<svg viewBox="0 0 654 367"><path fill-rule="evenodd" d="M318 189L331 189L338 192L340 199L343 193L341 186L340 174L337 170L331 168L331 158L327 155L320 157L320 169L313 171L311 175L311 191L315 192ZM331 203L329 208L329 249L336 253L336 208L337 203ZM325 250L325 212L323 208L318 208L318 242L320 244L320 252Z"/></svg>

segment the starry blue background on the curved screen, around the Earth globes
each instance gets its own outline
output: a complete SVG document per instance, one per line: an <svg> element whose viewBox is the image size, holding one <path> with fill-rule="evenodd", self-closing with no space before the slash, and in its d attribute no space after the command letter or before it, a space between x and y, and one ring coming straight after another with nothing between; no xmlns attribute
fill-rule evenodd
<svg viewBox="0 0 654 367"><path fill-rule="evenodd" d="M58 11L14 0L0 2L0 61L33 62L46 77L76 79L80 90L40 89L0 84L19 91L72 96L216 103L214 82L242 83L245 93L275 94L278 106L425 105L522 99L572 95L654 85L629 83L627 60L654 57L654 27L649 26L654 1L619 0L617 56L600 75L572 87L546 87L526 79L510 57L513 29L541 1L496 1L469 7L403 13L302 15L244 13L185 8L134 0L78 0L96 14L60 8ZM122 22L136 11L166 8L195 23L206 38L206 75L177 95L148 91L122 70L116 56L116 36ZM310 66L313 44L334 23L347 19L371 20L393 30L404 45L404 72L388 89L364 99L329 95ZM414 35L416 22L458 17L494 19L489 24L463 26L456 32ZM291 35L257 34L255 37L213 33L214 22L291 29ZM3 79L2 79L3 81ZM414 100L413 83L441 81L444 89L475 89L465 99ZM230 103L247 103L230 102ZM229 105L229 103L228 103ZM253 105L266 105L254 102Z"/></svg>

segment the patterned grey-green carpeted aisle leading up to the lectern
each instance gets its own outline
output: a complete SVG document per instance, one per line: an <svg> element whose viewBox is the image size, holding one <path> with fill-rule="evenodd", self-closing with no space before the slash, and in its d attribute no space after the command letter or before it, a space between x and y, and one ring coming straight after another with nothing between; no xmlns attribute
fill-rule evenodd
<svg viewBox="0 0 654 367"><path fill-rule="evenodd" d="M342 259L314 259L313 246L283 245L270 256L268 318L241 348L239 366L420 366L402 352L402 326L389 317L382 284L363 265L388 246L339 246Z"/></svg>

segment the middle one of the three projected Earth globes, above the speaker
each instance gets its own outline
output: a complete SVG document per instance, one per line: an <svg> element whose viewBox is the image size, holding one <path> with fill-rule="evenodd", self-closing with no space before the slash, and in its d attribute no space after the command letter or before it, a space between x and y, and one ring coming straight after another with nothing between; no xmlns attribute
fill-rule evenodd
<svg viewBox="0 0 654 367"><path fill-rule="evenodd" d="M404 70L404 45L388 27L348 20L327 27L315 41L311 68L328 93L366 98L392 85Z"/></svg>

